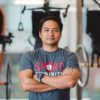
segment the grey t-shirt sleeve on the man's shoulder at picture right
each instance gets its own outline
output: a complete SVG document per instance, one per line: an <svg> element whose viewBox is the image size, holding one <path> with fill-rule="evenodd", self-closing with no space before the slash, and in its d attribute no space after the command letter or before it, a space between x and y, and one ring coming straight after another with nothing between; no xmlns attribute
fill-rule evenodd
<svg viewBox="0 0 100 100"><path fill-rule="evenodd" d="M75 53L69 53L68 54L66 67L67 68L78 68L79 69L78 58L77 58Z"/></svg>

